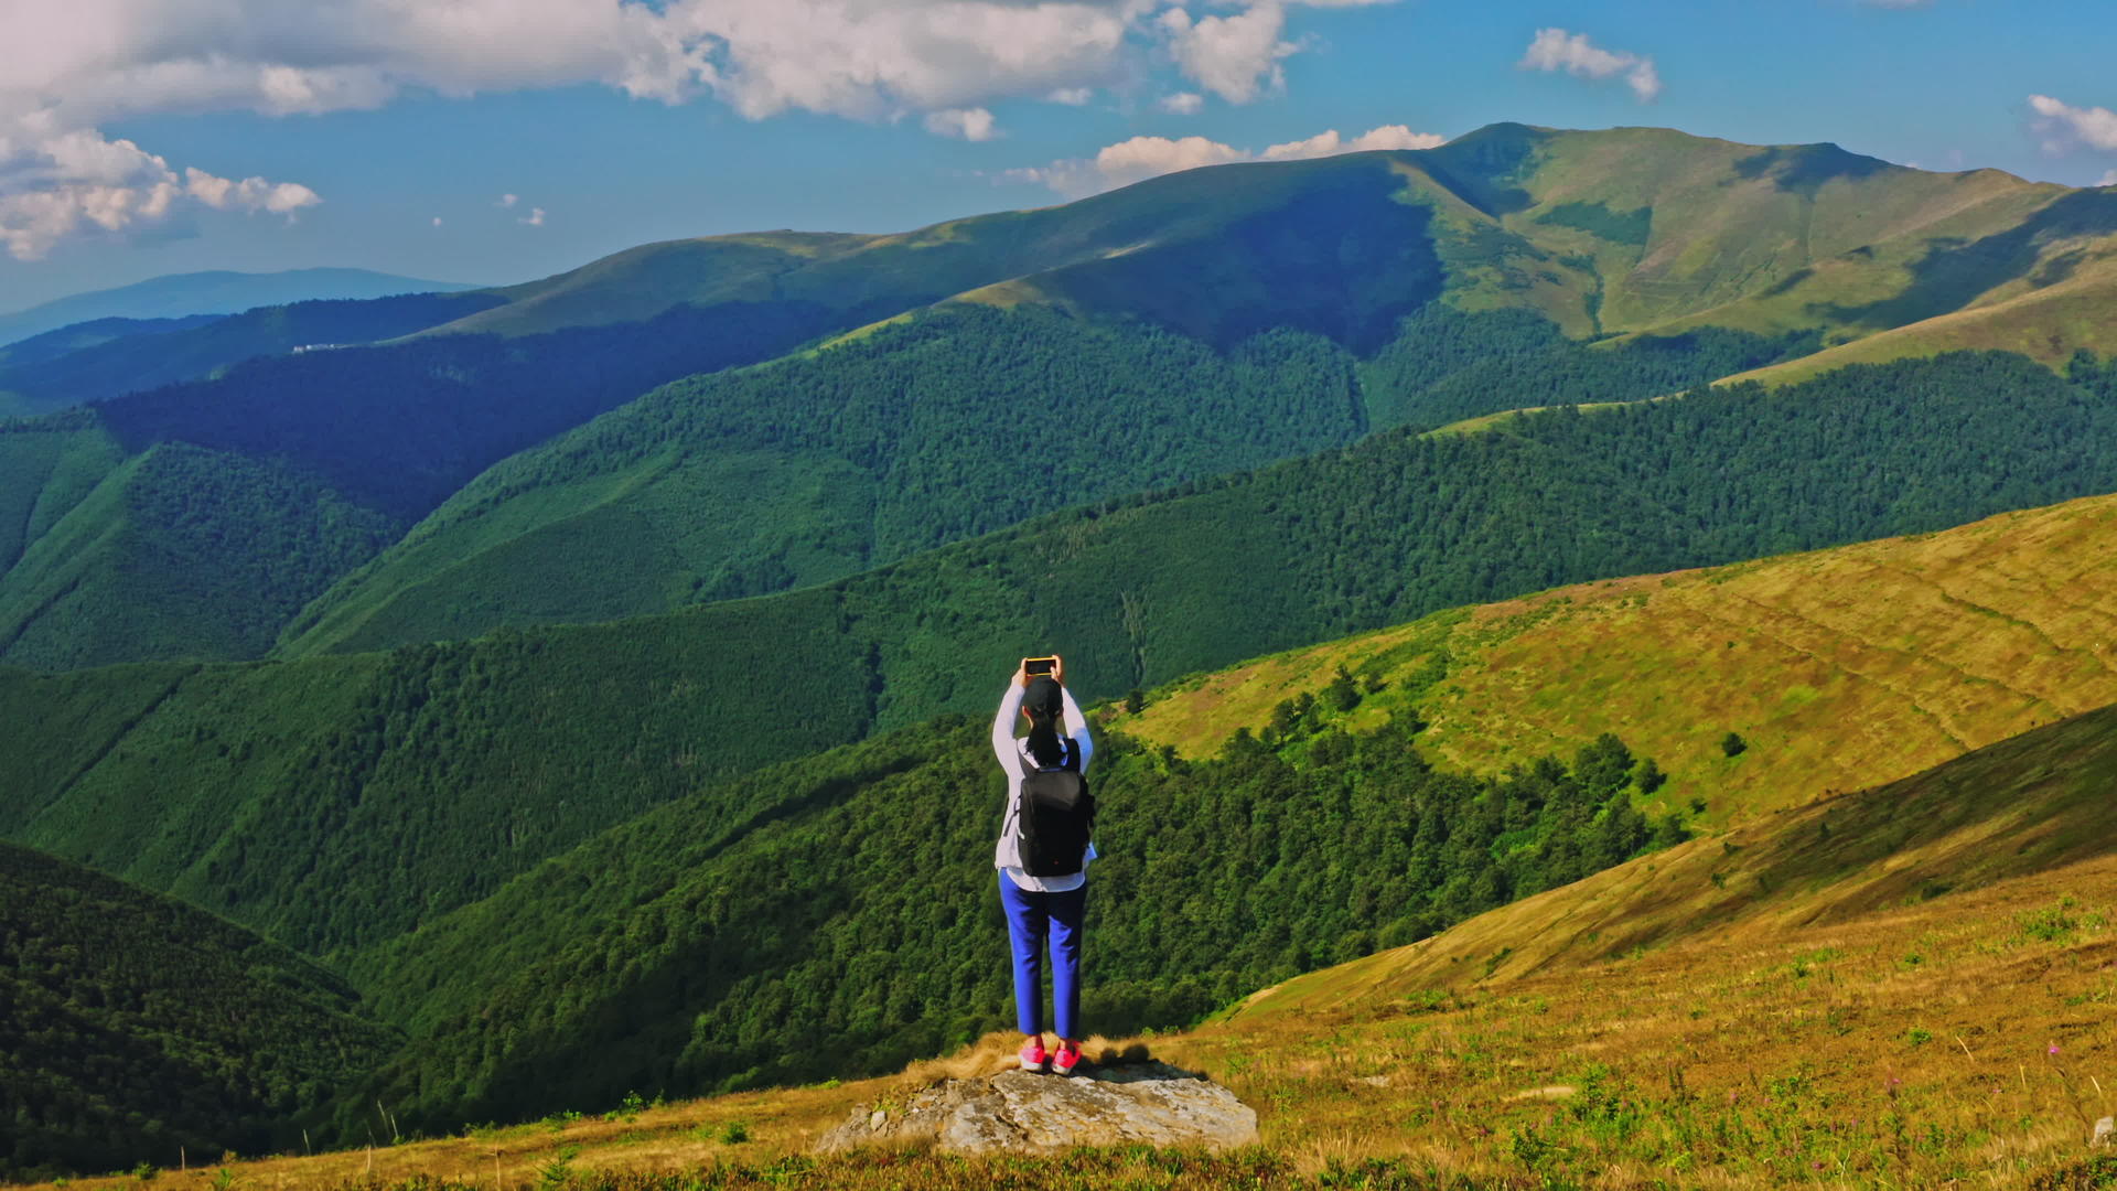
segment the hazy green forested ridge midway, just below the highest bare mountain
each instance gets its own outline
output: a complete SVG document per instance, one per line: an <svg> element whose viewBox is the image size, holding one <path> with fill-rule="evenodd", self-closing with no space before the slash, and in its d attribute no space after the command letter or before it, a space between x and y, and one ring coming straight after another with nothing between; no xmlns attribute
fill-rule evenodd
<svg viewBox="0 0 2117 1191"><path fill-rule="evenodd" d="M671 384L493 466L318 600L284 653L762 596L1376 426L1660 396L1806 348L1732 331L1588 348L1528 312L1435 303L1361 365L1313 331L1222 354L1141 324L942 307Z"/></svg>

